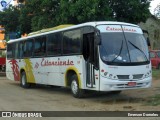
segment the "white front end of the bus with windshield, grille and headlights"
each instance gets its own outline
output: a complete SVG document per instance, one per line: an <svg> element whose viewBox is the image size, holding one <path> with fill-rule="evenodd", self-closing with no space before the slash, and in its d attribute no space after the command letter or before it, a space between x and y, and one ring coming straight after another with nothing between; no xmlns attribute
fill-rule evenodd
<svg viewBox="0 0 160 120"><path fill-rule="evenodd" d="M151 64L142 30L132 24L97 25L100 30L100 91L151 86Z"/></svg>

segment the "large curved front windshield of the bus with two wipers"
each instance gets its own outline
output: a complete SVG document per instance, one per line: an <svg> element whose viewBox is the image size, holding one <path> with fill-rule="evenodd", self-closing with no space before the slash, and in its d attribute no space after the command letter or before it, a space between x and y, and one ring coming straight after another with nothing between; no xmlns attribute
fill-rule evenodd
<svg viewBox="0 0 160 120"><path fill-rule="evenodd" d="M149 52L143 34L132 32L103 32L100 55L110 64L144 64L149 62Z"/></svg>

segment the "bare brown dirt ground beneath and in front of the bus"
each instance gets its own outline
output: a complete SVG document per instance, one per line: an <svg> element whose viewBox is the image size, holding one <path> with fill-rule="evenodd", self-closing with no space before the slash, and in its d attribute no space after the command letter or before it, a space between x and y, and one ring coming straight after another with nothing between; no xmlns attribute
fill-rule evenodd
<svg viewBox="0 0 160 120"><path fill-rule="evenodd" d="M160 111L160 105L154 104L158 94L160 80L153 80L148 89L123 91L119 95L88 92L85 98L77 99L70 89L42 85L24 89L15 81L0 77L0 111Z"/></svg>

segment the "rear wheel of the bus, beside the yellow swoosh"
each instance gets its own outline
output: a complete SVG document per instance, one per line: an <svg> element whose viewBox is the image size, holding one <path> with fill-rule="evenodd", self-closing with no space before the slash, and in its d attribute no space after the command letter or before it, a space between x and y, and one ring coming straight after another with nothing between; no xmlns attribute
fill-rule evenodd
<svg viewBox="0 0 160 120"><path fill-rule="evenodd" d="M27 77L26 77L26 73L25 72L22 72L22 74L21 74L20 85L23 88L29 88L31 86L31 84L27 83Z"/></svg>

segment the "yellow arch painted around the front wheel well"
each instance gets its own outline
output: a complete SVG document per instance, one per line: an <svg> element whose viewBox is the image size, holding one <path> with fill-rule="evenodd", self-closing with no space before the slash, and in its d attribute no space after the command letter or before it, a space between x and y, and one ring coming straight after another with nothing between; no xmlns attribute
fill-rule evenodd
<svg viewBox="0 0 160 120"><path fill-rule="evenodd" d="M67 86L67 73L68 73L68 71L70 71L70 70L73 70L73 71L76 73L76 75L77 75L77 77L78 77L79 88L82 88L81 78L80 78L78 69L77 69L76 67L73 67L73 66L72 66L72 67L68 67L67 70L66 70L66 72L65 72L65 86Z"/></svg>

